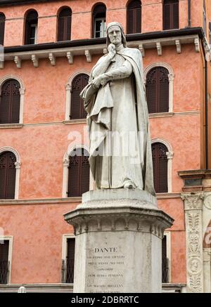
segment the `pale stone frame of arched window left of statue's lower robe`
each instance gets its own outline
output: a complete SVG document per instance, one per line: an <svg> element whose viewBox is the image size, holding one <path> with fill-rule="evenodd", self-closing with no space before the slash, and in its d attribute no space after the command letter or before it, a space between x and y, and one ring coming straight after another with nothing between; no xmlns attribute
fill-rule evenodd
<svg viewBox="0 0 211 307"><path fill-rule="evenodd" d="M84 150L87 150L89 152L89 147L87 145L73 145L70 149L68 149L67 152L65 152L65 155L63 157L63 190L62 190L62 197L63 198L68 198L70 199L71 197L67 196L67 191L68 191L68 166L70 164L70 154L72 153L73 150L78 149L78 148L83 148ZM89 190L94 189L94 179L93 176L91 175L91 170L89 174Z"/></svg>

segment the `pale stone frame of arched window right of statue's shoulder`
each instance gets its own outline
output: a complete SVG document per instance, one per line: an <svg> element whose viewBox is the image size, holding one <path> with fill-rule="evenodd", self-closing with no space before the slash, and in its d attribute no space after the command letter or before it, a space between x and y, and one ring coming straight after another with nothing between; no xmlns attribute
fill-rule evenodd
<svg viewBox="0 0 211 307"><path fill-rule="evenodd" d="M144 81L145 86L146 86L146 76L148 72L154 67L165 67L169 72L168 74L169 82L170 82L169 83L169 112L166 112L166 113L167 114L172 113L173 112L173 100L174 100L174 77L175 77L174 71L172 67L167 63L164 63L164 62L151 63L143 70L143 81ZM155 113L155 114L159 115L160 113Z"/></svg>

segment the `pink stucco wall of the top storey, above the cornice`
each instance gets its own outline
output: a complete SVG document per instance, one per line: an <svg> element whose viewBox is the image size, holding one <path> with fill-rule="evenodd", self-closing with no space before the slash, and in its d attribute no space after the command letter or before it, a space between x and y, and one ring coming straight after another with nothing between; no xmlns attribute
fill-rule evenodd
<svg viewBox="0 0 211 307"><path fill-rule="evenodd" d="M118 1L98 1L107 8L106 22L117 20L122 23L126 30L126 7L127 0ZM188 1L179 1L179 28L188 25ZM91 12L95 0L84 1L56 1L46 4L32 4L31 6L20 5L13 7L2 7L6 15L6 35L4 46L22 45L24 41L24 16L29 9L34 9L39 15L38 22L38 41L37 43L46 43L56 41L56 16L63 6L69 6L72 10L72 29L71 39L89 39L91 38ZM142 32L162 31L162 2L157 0L142 0ZM192 27L201 27L203 25L202 15L203 0L191 1L191 22ZM207 4L208 7L208 4Z"/></svg>

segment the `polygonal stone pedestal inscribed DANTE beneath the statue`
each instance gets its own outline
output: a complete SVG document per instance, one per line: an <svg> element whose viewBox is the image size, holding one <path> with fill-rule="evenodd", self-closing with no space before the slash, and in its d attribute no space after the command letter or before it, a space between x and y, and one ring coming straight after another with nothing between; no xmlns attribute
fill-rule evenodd
<svg viewBox="0 0 211 307"><path fill-rule="evenodd" d="M74 292L161 292L162 235L172 218L141 190L96 190L65 214L75 229Z"/></svg>

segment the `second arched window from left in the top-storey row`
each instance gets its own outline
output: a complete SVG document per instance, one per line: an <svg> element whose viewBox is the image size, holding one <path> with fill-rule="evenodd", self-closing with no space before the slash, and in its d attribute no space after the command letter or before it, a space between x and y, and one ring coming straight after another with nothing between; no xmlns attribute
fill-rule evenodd
<svg viewBox="0 0 211 307"><path fill-rule="evenodd" d="M37 44L38 13L30 11L25 17L25 45Z"/></svg>

